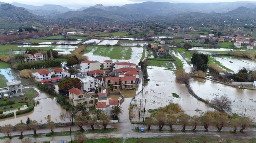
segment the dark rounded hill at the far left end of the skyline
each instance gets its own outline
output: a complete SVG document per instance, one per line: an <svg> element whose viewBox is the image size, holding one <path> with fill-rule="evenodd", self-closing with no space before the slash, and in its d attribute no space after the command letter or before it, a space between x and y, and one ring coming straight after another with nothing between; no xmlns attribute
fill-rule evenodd
<svg viewBox="0 0 256 143"><path fill-rule="evenodd" d="M0 19L16 24L42 20L40 17L29 13L25 8L15 7L9 3L0 5Z"/></svg>

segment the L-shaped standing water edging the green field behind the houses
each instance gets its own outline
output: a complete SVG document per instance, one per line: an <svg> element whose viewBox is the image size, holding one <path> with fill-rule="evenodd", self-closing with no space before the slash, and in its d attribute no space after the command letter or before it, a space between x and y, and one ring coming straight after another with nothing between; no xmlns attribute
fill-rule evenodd
<svg viewBox="0 0 256 143"><path fill-rule="evenodd" d="M142 57L142 53L143 53L143 48L142 47L130 47L132 50L131 53L131 57L129 60L123 60L123 59L112 59L113 62L116 62L116 60L118 60L119 62L132 62L135 64L138 64L138 62L140 62L140 59ZM93 54L93 50L90 51L89 53L84 54L84 56L88 57L88 60L94 61L97 60L99 62L103 62L104 60L110 60L109 57L106 56L100 56L100 55L94 55Z"/></svg>

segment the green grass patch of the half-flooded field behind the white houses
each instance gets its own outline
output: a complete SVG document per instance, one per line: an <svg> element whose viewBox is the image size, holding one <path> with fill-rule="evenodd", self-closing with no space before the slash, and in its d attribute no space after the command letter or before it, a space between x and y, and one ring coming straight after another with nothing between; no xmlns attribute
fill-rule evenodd
<svg viewBox="0 0 256 143"><path fill-rule="evenodd" d="M91 52L93 49L93 55L98 55L98 56L106 56L110 57L110 59L123 59L123 60L128 60L131 58L131 48L130 47L122 47L122 46L110 46L110 47L105 47L105 46L95 46L95 45L90 45L86 47L85 53Z"/></svg>

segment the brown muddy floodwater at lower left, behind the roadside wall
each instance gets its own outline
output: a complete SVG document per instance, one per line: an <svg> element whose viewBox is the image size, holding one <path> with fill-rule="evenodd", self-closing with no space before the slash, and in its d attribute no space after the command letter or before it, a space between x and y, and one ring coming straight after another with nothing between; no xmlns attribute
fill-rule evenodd
<svg viewBox="0 0 256 143"><path fill-rule="evenodd" d="M59 116L61 111L66 111L63 109L59 103L55 102L55 98L49 98L49 95L47 93L40 92L38 89L36 91L39 92L39 96L35 98L35 100L39 101L39 104L35 106L34 110L26 113L21 114L10 118L0 119L0 126L3 126L4 124L12 124L15 125L19 123L21 120L26 123L27 118L29 117L31 120L36 120L38 123L46 123L45 117L47 115L51 115L52 121L56 122L63 122ZM22 109L22 108L21 108ZM17 110L7 111L7 113L10 112L16 112ZM57 120L57 121L56 121ZM42 122L41 122L42 121ZM66 119L66 122L69 121Z"/></svg>

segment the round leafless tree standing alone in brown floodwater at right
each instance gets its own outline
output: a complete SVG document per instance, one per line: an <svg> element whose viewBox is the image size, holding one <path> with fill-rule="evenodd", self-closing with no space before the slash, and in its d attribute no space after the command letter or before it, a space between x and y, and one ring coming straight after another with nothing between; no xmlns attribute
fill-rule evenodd
<svg viewBox="0 0 256 143"><path fill-rule="evenodd" d="M221 112L230 112L231 111L231 101L228 96L221 95L220 98L215 97L211 100L211 104L218 108Z"/></svg>

